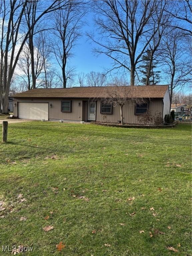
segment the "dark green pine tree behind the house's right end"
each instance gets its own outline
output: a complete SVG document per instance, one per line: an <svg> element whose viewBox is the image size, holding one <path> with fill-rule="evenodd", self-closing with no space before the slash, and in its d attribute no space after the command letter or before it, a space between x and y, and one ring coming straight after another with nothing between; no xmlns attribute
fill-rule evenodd
<svg viewBox="0 0 192 256"><path fill-rule="evenodd" d="M151 51L148 50L147 53L144 54L142 57L142 61L144 64L140 66L140 72L144 75L141 79L141 82L143 84L146 84L146 81L147 81L150 58L151 58ZM149 85L156 85L160 81L161 71L154 71L156 67L157 67L157 61L153 60L151 65L150 77L149 77Z"/></svg>

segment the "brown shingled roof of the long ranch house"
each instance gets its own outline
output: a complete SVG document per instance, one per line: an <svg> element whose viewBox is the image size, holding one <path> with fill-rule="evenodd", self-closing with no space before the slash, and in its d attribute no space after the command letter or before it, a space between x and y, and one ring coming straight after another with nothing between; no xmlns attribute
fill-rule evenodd
<svg viewBox="0 0 192 256"><path fill-rule="evenodd" d="M109 91L115 91L116 86L107 87L72 87L32 89L15 94L14 98L103 98L108 97ZM118 87L120 90L121 86ZM127 94L136 98L163 98L168 85L126 86Z"/></svg>

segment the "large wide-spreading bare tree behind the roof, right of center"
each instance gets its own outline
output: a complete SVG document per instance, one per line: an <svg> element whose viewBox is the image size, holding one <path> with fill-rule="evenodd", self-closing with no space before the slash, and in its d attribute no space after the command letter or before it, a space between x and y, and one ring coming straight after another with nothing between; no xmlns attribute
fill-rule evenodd
<svg viewBox="0 0 192 256"><path fill-rule="evenodd" d="M99 45L96 53L104 53L114 61L111 70L130 71L130 85L135 85L135 73L142 55L154 34L161 31L159 25L164 11L163 1L96 1L99 17L96 25L104 40L89 37ZM158 6L161 6L159 8ZM159 22L153 19L158 16Z"/></svg>

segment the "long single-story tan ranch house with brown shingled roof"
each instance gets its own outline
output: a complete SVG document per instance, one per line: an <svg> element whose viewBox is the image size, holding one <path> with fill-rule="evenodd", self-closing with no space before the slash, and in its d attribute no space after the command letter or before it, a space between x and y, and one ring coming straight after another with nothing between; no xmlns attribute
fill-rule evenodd
<svg viewBox="0 0 192 256"><path fill-rule="evenodd" d="M24 119L45 119L66 121L100 121L117 122L120 118L120 107L102 102L107 98L110 87L72 87L52 89L32 89L13 96L14 116ZM130 87L127 87L130 90ZM138 115L150 110L155 116L161 113L162 118L170 113L170 94L167 85L134 86L131 95L145 98L146 104L123 106L125 123L139 124Z"/></svg>

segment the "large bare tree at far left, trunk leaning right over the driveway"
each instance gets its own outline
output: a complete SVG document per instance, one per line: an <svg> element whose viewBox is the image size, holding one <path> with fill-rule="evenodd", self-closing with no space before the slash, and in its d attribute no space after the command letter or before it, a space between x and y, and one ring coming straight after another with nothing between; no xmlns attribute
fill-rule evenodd
<svg viewBox="0 0 192 256"><path fill-rule="evenodd" d="M71 5L71 1L50 1L46 2L41 12L35 16L30 23L30 27L24 32L21 24L24 22L25 10L28 1L3 1L0 0L0 51L1 51L1 79L0 79L0 100L2 102L3 113L8 112L8 94L20 53L29 38L35 25L46 14L58 9L66 9ZM37 5L41 4L40 1ZM32 10L31 10L32 11ZM17 47L16 47L17 46Z"/></svg>

